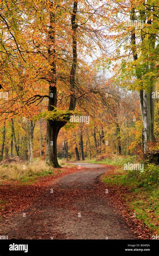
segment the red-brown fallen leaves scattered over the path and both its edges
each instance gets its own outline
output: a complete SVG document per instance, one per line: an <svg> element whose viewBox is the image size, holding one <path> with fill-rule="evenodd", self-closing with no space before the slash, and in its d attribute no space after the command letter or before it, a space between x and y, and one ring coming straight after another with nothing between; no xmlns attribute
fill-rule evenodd
<svg viewBox="0 0 159 256"><path fill-rule="evenodd" d="M101 168L107 170L107 174L113 174L115 168L110 165L103 165ZM61 171L62 170L62 171ZM80 171L85 171L86 169L82 167ZM95 168L94 168L95 170ZM92 202L96 204L101 202L101 205L98 207L103 207L105 202L107 201L108 205L112 207L112 211L121 216L122 219L125 221L125 227L129 227L128 231L124 231L127 233L127 238L129 235L135 234L136 237L139 239L150 239L151 232L150 230L143 224L141 220L133 218L133 211L129 209L128 204L123 200L122 195L128 193L128 190L125 187L118 187L116 185L108 185L100 182L99 177L95 181L95 185L92 187L92 183L89 186L83 185L85 181L89 179L86 175L82 181L76 181L76 183L72 180L69 183L70 187L63 187L66 184L59 182L59 178L64 177L67 174L78 172L77 167L67 167L63 169L56 169L55 175L49 175L45 177L38 178L38 181L29 185L29 184L21 184L20 182L4 182L1 186L1 200L4 201L2 203L2 208L0 210L1 216L3 216L8 225L11 225L11 218L18 212L25 212L26 215L30 216L30 225L32 228L36 229L36 238L38 239L50 239L47 236L47 233L50 234L49 230L52 230L53 226L56 226L59 222L64 222L65 217L67 217L68 221L70 221L70 225L72 223L76 223L77 219L78 222L81 223L81 218L77 218L78 215L78 208L80 207L81 212L85 212L86 220L96 225L97 229L101 229L102 220L105 220L105 213L107 212L106 209L103 209L103 216L100 215L101 219L98 220L97 216L94 215L92 209ZM115 174L114 174L115 175ZM63 182L63 181L62 181ZM109 189L109 193L105 193L106 189ZM50 190L53 189L54 200L50 200ZM102 199L103 198L103 199ZM105 201L106 200L106 201ZM85 202L85 204L83 204ZM49 211L49 209L54 209L54 213L57 212L56 219L52 219L53 212L51 210L48 213L48 217L51 218L43 223L45 218L45 211ZM68 212L67 215L63 216L63 209ZM59 217L58 217L59 214ZM26 234L31 233L29 239L35 239L35 234L32 234L32 230L30 229L30 225L25 223L25 218L20 220L21 223L23 221L23 230ZM97 222L98 221L98 222ZM116 221L112 218L112 225ZM22 224L21 224L22 225ZM28 226L29 225L29 226ZM74 225L74 224L72 224ZM80 224L81 226L82 224ZM40 227L40 228L39 228ZM115 229L120 230L122 227L121 223L115 224ZM67 225L65 226L67 228ZM72 226L73 228L73 226ZM69 227L68 227L69 229ZM19 227L15 228L17 233L20 234ZM121 229L122 231L122 229ZM108 231L104 231L105 236L107 235ZM110 230L111 232L111 230ZM119 231L117 231L119 232ZM103 233L103 231L101 231ZM129 234L128 234L129 233ZM23 233L24 234L24 233ZM62 232L62 229L56 229L56 233L54 233L54 239L68 239L69 236L72 234L65 234ZM120 233L119 233L120 235ZM121 233L121 235L123 235ZM76 239L76 238L73 238ZM82 233L81 237L82 239ZM91 237L90 237L91 239ZM126 239L126 237L124 238Z"/></svg>

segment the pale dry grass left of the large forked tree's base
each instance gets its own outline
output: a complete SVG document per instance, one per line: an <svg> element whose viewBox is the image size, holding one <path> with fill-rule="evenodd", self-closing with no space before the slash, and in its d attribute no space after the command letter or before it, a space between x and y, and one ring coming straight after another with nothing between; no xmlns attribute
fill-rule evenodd
<svg viewBox="0 0 159 256"><path fill-rule="evenodd" d="M48 175L53 173L54 168L48 166L44 160L36 159L32 164L28 162L11 163L0 165L0 180L21 180L27 177Z"/></svg>

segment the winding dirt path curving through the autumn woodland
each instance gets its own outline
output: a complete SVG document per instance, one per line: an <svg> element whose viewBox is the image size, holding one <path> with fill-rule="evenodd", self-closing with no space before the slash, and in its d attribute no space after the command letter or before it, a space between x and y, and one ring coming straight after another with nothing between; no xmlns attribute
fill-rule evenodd
<svg viewBox="0 0 159 256"><path fill-rule="evenodd" d="M0 235L8 235L8 239L137 239L108 206L108 194L99 182L105 167L72 164L86 169L77 169L38 190L34 207L2 219Z"/></svg>

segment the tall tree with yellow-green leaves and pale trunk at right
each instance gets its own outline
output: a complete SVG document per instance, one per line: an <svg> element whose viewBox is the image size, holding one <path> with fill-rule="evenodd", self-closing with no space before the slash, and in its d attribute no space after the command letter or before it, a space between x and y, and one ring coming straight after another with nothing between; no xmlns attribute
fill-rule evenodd
<svg viewBox="0 0 159 256"><path fill-rule="evenodd" d="M146 152L148 142L154 142L155 99L152 93L157 78L157 2L107 1L105 9L110 24L108 31L117 34L110 35L115 42L115 46L110 46L113 56L110 52L101 62L112 63L118 83L140 94L143 151Z"/></svg>

